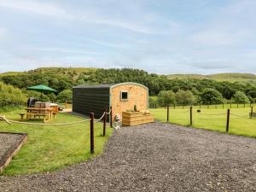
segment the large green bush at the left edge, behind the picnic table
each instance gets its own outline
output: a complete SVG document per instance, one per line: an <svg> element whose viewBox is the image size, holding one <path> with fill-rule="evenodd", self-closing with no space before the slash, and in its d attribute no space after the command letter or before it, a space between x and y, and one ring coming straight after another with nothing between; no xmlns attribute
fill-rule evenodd
<svg viewBox="0 0 256 192"><path fill-rule="evenodd" d="M12 85L0 82L0 108L19 107L26 102L26 96Z"/></svg>

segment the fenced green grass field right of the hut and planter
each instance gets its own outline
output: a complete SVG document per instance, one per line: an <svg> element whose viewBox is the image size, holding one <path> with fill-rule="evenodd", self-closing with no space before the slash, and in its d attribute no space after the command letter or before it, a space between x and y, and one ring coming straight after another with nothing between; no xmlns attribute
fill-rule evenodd
<svg viewBox="0 0 256 192"><path fill-rule="evenodd" d="M225 131L227 109L202 108L201 113L197 113L197 109L193 108L193 127L212 131ZM250 110L250 108L230 109L230 134L256 137L256 118L248 118ZM167 113L165 108L151 108L150 111L154 113L155 119L166 122ZM170 123L189 125L189 108L170 109L169 117Z"/></svg>

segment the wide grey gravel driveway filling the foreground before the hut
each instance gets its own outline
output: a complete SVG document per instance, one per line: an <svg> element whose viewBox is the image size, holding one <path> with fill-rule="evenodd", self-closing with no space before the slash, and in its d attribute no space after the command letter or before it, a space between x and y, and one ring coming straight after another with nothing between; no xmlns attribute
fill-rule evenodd
<svg viewBox="0 0 256 192"><path fill-rule="evenodd" d="M179 125L113 132L105 153L59 172L0 177L0 191L256 191L256 139Z"/></svg>

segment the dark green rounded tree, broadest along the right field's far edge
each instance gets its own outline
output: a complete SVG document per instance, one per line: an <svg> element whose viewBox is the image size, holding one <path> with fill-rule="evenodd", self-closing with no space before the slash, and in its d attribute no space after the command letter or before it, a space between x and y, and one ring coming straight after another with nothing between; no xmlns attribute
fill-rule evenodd
<svg viewBox="0 0 256 192"><path fill-rule="evenodd" d="M205 105L220 104L224 101L218 90L206 88L201 93L201 103Z"/></svg>

